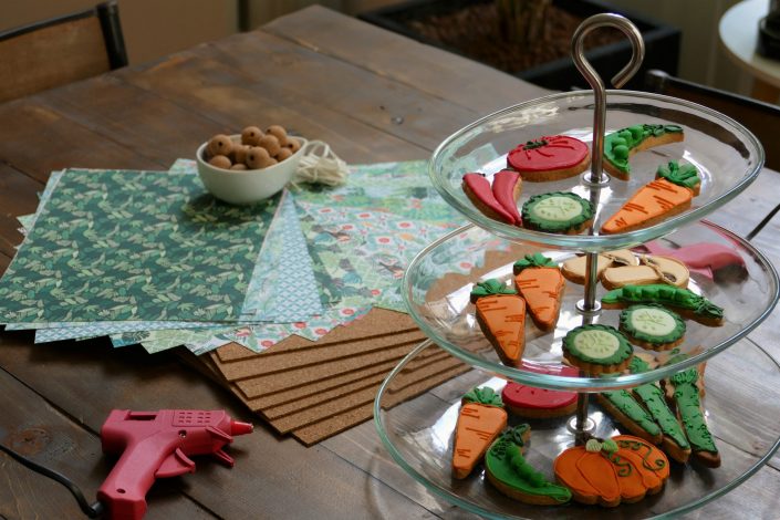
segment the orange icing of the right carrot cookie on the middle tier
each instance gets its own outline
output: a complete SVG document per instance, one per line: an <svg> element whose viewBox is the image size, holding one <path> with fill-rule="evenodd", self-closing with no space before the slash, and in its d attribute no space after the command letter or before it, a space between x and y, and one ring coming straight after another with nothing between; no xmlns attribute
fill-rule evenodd
<svg viewBox="0 0 780 520"><path fill-rule="evenodd" d="M533 323L544 331L555 326L561 313L563 274L558 268L530 268L514 277L514 283L528 304Z"/></svg>

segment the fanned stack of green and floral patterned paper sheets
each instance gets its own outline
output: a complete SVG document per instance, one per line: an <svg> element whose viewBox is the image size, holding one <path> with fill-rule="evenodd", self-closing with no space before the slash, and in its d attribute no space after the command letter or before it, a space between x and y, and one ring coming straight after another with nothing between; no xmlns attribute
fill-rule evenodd
<svg viewBox="0 0 780 520"><path fill-rule="evenodd" d="M405 311L408 261L462 223L424 162L354 167L346 186L221 204L196 166L52 174L0 280L7 330L111 336L148 352L316 341L373 306Z"/></svg>

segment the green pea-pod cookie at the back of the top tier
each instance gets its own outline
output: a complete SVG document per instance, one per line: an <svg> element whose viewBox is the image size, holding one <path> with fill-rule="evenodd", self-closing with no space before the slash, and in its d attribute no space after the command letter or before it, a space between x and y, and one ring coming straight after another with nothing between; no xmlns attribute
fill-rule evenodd
<svg viewBox="0 0 780 520"><path fill-rule="evenodd" d="M644 124L621 128L604 136L604 169L618 179L628 180L628 157L637 152L677 143L684 138L683 127L677 125Z"/></svg>

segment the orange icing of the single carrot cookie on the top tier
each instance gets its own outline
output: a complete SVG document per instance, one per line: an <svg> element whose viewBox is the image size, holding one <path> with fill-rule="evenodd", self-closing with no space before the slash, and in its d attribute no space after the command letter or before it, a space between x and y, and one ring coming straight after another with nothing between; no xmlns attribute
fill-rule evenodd
<svg viewBox="0 0 780 520"><path fill-rule="evenodd" d="M643 186L615 215L604 222L603 233L618 233L642 227L644 222L664 217L675 208L687 206L694 193L666 179L655 179Z"/></svg>

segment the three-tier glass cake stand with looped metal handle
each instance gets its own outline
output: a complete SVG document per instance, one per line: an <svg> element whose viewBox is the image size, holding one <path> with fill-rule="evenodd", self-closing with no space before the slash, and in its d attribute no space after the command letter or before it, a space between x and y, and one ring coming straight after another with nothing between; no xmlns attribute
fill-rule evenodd
<svg viewBox="0 0 780 520"><path fill-rule="evenodd" d="M405 273L404 298L429 340L404 358L379 388L375 424L392 457L414 479L450 502L489 518L601 518L604 509L575 502L528 506L498 492L485 481L483 471L465 480L454 479L453 435L460 397L477 385L500 389L509 379L579 393L574 417L528 420L532 435L527 459L554 480L552 462L565 448L587 435L606 438L618 433L610 416L596 405L589 406L590 393L655 382L706 361L704 406L721 453L721 467L674 464L664 491L614 511L624 518L664 517L707 503L748 479L780 446L780 365L755 343L739 342L774 308L779 295L777 272L749 242L701 221L756 178L763 165L763 149L742 125L705 106L657 94L605 91L582 53L584 37L605 25L622 30L634 46L632 62L613 80L617 87L624 84L642 61L641 34L622 17L592 17L575 33L572 55L593 91L554 94L496 112L448 137L430 160L430 178L440 195L474 223L428 246ZM604 132L644 123L683 126L685 141L632 157L631 180L610 179L601 167ZM597 208L590 233L552 235L506 225L482 215L462 193L461 177L475 164L480 171L496 173L505 167L506 154L519 143L558 134L591 143L591 170L563 180L526 183L522 199L550 191L574 191L589 198ZM659 164L678 159L695 165L701 177L700 195L688 210L645 229L609 236L596 232L601 222L652 179ZM620 311L601 310L597 303L604 289L595 277L595 256L651 241L672 250L696 245L705 252L700 259L705 268L691 271L688 289L724 308L722 326L688 321L685 342L675 351L685 355L639 374L566 377L527 372L499 361L469 304L476 282L488 278L510 280L512 262L524 254L541 252L563 262L586 253L586 283L566 283L555 330L543 333L530 323L526 327L523 360L560 363L561 342L571 329L584 323L617 325ZM708 248L727 248L741 260L714 266L717 262L709 259L709 267L715 269L708 270ZM405 366L436 349L444 349L472 370L416 399L386 407L394 401L394 382ZM520 422L526 419L510 419L510 424Z"/></svg>

